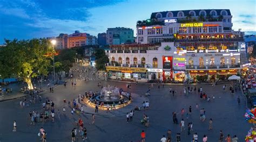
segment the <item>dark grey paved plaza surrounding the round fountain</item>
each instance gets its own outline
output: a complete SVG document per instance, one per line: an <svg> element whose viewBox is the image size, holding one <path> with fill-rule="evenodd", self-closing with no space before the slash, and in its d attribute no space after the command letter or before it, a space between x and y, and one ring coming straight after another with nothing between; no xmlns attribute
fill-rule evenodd
<svg viewBox="0 0 256 142"><path fill-rule="evenodd" d="M193 133L197 132L199 141L202 141L203 135L206 134L208 141L218 141L219 131L224 132L224 136L230 134L232 137L237 135L239 141L244 141L247 131L252 124L247 123L244 120L244 113L246 109L246 101L241 92L237 92L231 95L228 91L224 93L222 91L223 84L219 84L215 87L211 85L197 85L203 87L203 91L212 97L215 96L215 100L207 102L201 100L197 91L188 95L183 94L184 86L168 86L164 88L160 86L158 89L155 84L151 89L151 95L145 96L145 93L150 84L131 84L131 93L134 102L125 108L118 109L114 112L106 112L99 110L96 113L96 123L91 123L91 113L94 113L94 108L90 106L84 106L86 113L77 115L71 114L71 108L68 103L64 103L63 100L68 101L77 99L78 95L84 95L85 91L100 91L100 87L97 87L99 80L91 80L85 82L79 80L78 74L75 74L77 79L77 86L72 87L71 81L68 80L66 88L63 85L57 86L54 93L50 91L44 91L42 93L43 100L48 97L55 102L55 111L60 110L60 116L56 117L56 122L36 123L30 125L29 112L36 110L39 113L43 111L42 103L36 103L25 108L19 106L19 101L24 98L18 98L16 100L0 102L0 141L42 141L37 136L41 126L46 131L47 141L71 141L71 130L75 125L75 121L81 117L84 121L84 126L87 129L86 141L138 141L140 140L140 132L144 130L146 132L146 141L160 141L160 138L165 134L167 130L172 131L172 140L176 140L176 133L180 132L179 124L173 124L172 112L178 113L178 122L181 120L180 111L185 109L188 112L188 108L192 106L192 114L185 120L186 130L181 132L181 141L191 141ZM126 83L100 81L103 86L111 85L123 88L126 91ZM230 84L227 84L229 87ZM177 90L176 95L173 97L169 94L169 87ZM194 88L194 86L193 86ZM237 97L241 97L241 104L238 105ZM147 110L136 111L133 116L133 121L126 122L126 112L129 112L136 105L142 106L143 101L149 100L150 108ZM196 104L199 104L199 108L196 109ZM66 112L62 112L62 108L65 106ZM206 110L206 121L201 122L199 117L199 110L204 108ZM186 113L185 112L185 113ZM143 114L146 113L149 116L150 125L145 127L140 124L140 120L143 118ZM208 131L208 120L213 119L213 130ZM12 132L12 125L14 120L17 123L17 132ZM187 134L187 124L193 123L192 134ZM77 127L78 129L78 127ZM78 141L82 141L82 138L78 137Z"/></svg>

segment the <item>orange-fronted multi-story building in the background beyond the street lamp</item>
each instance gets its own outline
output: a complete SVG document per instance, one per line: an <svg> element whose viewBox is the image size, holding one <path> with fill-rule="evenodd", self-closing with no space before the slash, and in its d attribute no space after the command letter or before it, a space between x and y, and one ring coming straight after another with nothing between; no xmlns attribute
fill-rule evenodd
<svg viewBox="0 0 256 142"><path fill-rule="evenodd" d="M69 35L69 48L85 45L86 33L80 33L79 31L75 31L75 33Z"/></svg>

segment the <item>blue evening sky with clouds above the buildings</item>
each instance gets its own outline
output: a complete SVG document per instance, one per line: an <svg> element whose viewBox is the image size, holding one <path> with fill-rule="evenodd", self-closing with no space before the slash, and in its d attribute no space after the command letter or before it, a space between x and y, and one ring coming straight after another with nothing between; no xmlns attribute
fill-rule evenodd
<svg viewBox="0 0 256 142"><path fill-rule="evenodd" d="M53 37L75 30L93 36L108 27L135 30L137 20L152 12L190 9L230 9L234 30L256 34L255 0L0 0L0 44L4 38Z"/></svg>

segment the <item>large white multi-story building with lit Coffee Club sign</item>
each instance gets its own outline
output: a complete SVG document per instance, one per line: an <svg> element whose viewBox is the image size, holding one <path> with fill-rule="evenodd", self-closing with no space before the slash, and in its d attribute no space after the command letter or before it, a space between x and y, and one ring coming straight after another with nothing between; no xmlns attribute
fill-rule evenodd
<svg viewBox="0 0 256 142"><path fill-rule="evenodd" d="M224 80L247 69L243 34L230 10L155 12L137 22L138 44L110 46L107 70L117 79Z"/></svg>

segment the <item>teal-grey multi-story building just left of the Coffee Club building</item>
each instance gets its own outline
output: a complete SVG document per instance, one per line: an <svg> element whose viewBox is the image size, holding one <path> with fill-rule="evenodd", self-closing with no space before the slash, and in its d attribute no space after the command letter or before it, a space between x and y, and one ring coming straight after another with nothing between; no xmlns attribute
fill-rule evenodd
<svg viewBox="0 0 256 142"><path fill-rule="evenodd" d="M133 43L133 30L125 27L107 28L106 43L108 45Z"/></svg>

